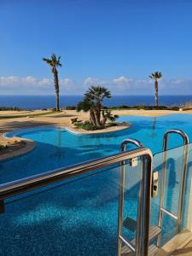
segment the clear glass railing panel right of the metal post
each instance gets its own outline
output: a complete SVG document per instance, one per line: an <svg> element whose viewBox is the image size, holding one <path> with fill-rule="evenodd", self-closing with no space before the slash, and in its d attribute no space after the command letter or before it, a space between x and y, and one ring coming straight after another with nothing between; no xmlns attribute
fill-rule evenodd
<svg viewBox="0 0 192 256"><path fill-rule="evenodd" d="M175 216L178 215L180 189L182 183L183 174L183 157L184 150L187 149L185 146L179 148L173 148L154 155L154 171L159 173L158 183L158 195L152 199L151 203L151 222L156 221L158 225L158 218L160 213L160 192L162 186L162 175L164 172L164 162L166 160L165 168L165 193L163 208L168 212L172 212ZM189 218L189 196L191 194L191 173L192 173L192 145L188 146L188 160L186 162L186 177L183 194L183 216L181 219L181 226L178 229L177 219L174 219L167 215L165 212L162 213L162 235L161 245L164 245L173 236L177 235L178 232L188 229L187 222ZM192 199L192 197L191 197Z"/></svg>

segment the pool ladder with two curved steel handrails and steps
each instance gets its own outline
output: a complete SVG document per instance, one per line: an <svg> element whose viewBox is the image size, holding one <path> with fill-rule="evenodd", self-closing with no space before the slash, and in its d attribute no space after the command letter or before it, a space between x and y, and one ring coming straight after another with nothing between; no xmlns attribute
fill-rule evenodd
<svg viewBox="0 0 192 256"><path fill-rule="evenodd" d="M165 184L166 184L166 151L167 151L167 140L168 136L172 133L178 134L183 138L183 170L182 170L182 177L181 177L181 185L179 190L179 200L178 200L178 211L177 215L173 214L172 212L169 212L164 207L164 197L165 197ZM120 145L120 151L123 152L126 150L127 144L133 144L137 146L137 148L142 148L143 144L140 143L137 140L134 139L126 139L123 143ZM184 200L184 188L185 188L185 179L186 179L186 172L187 172L187 162L188 162L188 154L189 154L189 137L186 135L185 132L181 130L169 130L166 131L163 137L163 171L162 171L162 183L161 183L161 189L160 189L160 207L159 207L159 218L158 218L158 226L152 226L149 229L148 232L148 243L150 241L153 241L154 238L157 238L156 245L152 244L148 246L148 255L153 256L154 254L160 252L161 247L161 230L162 230L162 222L163 222L163 213L166 213L168 216L170 216L173 219L177 220L177 233L181 231L181 222L182 222L182 216L183 216L183 200ZM140 251L139 243L140 243L140 236L141 234L138 234L137 226L140 224L139 218L148 218L146 214L143 213L143 215L138 215L137 213L137 221L126 217L125 220L123 219L123 207L124 207L124 189L125 189L125 163L121 164L121 171L120 171L120 186L119 186L119 217L118 217L118 256L131 256L131 255L144 255L143 252ZM147 170L146 170L147 171ZM155 174L154 172L153 174ZM155 180L153 180L155 179ZM152 188L155 184L155 189ZM141 184L140 184L141 185ZM153 193L155 190L156 193ZM151 184L151 192L152 197L153 195L156 196L158 193L158 174L152 175L152 184ZM141 200L141 199L139 199ZM138 207L139 212L139 207ZM136 238L132 241L127 240L123 236L123 227L125 227L127 230L131 230L131 232L134 232L137 230ZM138 250L138 251L137 251Z"/></svg>

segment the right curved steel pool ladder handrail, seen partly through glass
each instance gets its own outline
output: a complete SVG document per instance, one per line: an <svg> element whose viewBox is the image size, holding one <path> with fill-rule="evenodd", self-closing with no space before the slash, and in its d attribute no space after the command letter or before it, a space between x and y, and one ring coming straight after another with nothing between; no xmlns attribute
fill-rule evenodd
<svg viewBox="0 0 192 256"><path fill-rule="evenodd" d="M165 198L165 184L166 184L166 151L167 151L167 142L168 137L170 134L175 133L180 135L183 138L183 171L181 177L181 185L179 191L179 201L178 201L178 210L177 216L172 214L172 212L166 211L164 209L164 198ZM181 221L183 216L183 200L184 200L184 187L185 187L185 179L186 179L186 172L187 172L187 163L188 163L188 154L189 154L189 137L187 134L179 129L171 129L166 131L163 137L163 168L162 168L162 181L161 181L161 189L160 189L160 212L159 212L159 220L158 225L162 228L162 218L163 212L166 212L172 218L177 218L177 231L181 229ZM161 243L161 235L158 236L157 245L160 247Z"/></svg>

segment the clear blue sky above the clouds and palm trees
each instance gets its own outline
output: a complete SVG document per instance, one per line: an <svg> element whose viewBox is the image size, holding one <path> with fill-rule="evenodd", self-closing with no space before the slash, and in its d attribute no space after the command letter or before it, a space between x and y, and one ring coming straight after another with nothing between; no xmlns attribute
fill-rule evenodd
<svg viewBox="0 0 192 256"><path fill-rule="evenodd" d="M42 57L53 52L61 55L63 93L74 94L79 88L79 94L82 84L86 88L89 82L101 82L116 94L129 95L134 88L147 88L148 75L159 70L162 94L173 93L179 83L187 94L192 86L192 1L0 1L4 94L11 94L10 88L12 94L36 94L41 84L50 86L51 93L52 75Z"/></svg>

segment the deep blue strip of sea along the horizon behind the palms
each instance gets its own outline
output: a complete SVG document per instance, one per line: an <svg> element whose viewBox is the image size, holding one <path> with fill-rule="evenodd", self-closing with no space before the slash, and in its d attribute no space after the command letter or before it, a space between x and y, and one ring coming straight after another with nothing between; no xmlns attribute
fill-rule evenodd
<svg viewBox="0 0 192 256"><path fill-rule="evenodd" d="M60 96L61 108L75 106L83 99L83 96ZM186 102L192 102L190 96L159 96L159 105L182 106ZM150 105L154 106L154 96L113 96L103 103L107 107L122 105ZM55 108L55 96L0 96L0 107L17 107L22 109Z"/></svg>

